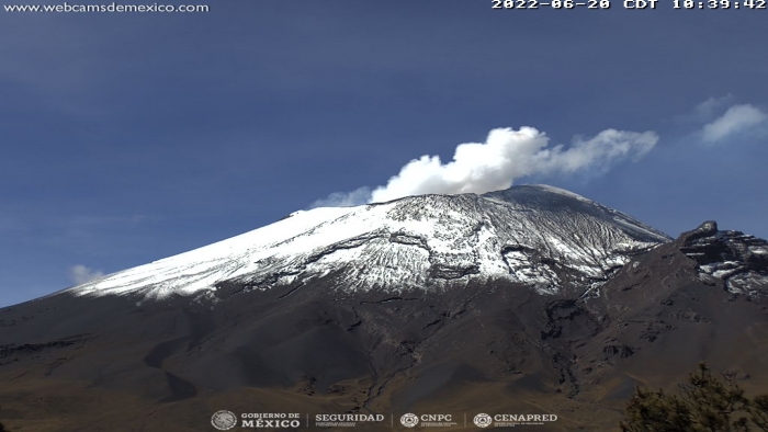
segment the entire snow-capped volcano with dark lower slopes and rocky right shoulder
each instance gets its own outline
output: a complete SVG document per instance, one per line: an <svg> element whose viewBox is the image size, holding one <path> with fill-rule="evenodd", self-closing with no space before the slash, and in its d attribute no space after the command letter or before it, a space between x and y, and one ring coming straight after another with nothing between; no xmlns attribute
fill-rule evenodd
<svg viewBox="0 0 768 432"><path fill-rule="evenodd" d="M0 309L0 421L614 430L636 385L700 361L768 387L767 293L765 240L713 221L671 239L552 186L315 208Z"/></svg>

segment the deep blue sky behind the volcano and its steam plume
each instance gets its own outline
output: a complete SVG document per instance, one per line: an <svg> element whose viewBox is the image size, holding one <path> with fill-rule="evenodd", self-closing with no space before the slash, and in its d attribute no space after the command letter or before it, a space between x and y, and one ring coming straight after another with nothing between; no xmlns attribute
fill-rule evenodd
<svg viewBox="0 0 768 432"><path fill-rule="evenodd" d="M561 151L653 134L647 151L510 180L673 236L716 219L768 237L768 11L208 4L0 11L0 306L387 185L425 155L448 164L505 127Z"/></svg>

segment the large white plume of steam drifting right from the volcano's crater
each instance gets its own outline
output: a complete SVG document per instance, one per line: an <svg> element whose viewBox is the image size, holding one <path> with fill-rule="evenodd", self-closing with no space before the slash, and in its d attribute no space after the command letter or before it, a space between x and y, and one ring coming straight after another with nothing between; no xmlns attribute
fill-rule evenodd
<svg viewBox="0 0 768 432"><path fill-rule="evenodd" d="M370 197L365 196L369 190L361 187L332 193L315 204L354 205L364 203L366 197L376 203L430 193L484 193L509 187L516 179L527 175L602 173L621 160L642 158L657 141L653 132L607 129L589 139L576 138L567 148L558 145L550 149L550 138L533 127L497 128L490 130L485 143L456 146L450 162L429 155L411 160L386 185L370 192Z"/></svg>

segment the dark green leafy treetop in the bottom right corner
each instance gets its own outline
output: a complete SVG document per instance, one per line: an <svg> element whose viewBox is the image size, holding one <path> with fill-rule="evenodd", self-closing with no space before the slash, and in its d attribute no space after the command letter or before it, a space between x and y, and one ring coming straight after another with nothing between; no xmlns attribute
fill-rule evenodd
<svg viewBox="0 0 768 432"><path fill-rule="evenodd" d="M626 405L622 432L768 432L768 395L753 399L733 374L712 376L707 364L690 374L679 395L637 387Z"/></svg>

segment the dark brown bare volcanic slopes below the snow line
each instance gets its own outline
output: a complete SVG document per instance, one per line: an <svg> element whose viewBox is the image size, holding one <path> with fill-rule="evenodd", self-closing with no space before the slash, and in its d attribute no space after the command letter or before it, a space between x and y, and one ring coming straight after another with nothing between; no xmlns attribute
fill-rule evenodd
<svg viewBox="0 0 768 432"><path fill-rule="evenodd" d="M568 201L549 205L560 203ZM355 243L337 245L346 247ZM568 271L543 251L498 250L508 264L533 257L532 271ZM275 277L270 289L225 281L194 300L64 293L0 309L0 421L210 431L219 409L524 412L564 419L542 431L600 431L615 427L635 385L674 386L700 361L749 376L747 389L768 386L766 242L714 223L633 252L579 292L476 281L465 277L472 265L430 269L452 284L345 291L331 272Z"/></svg>

